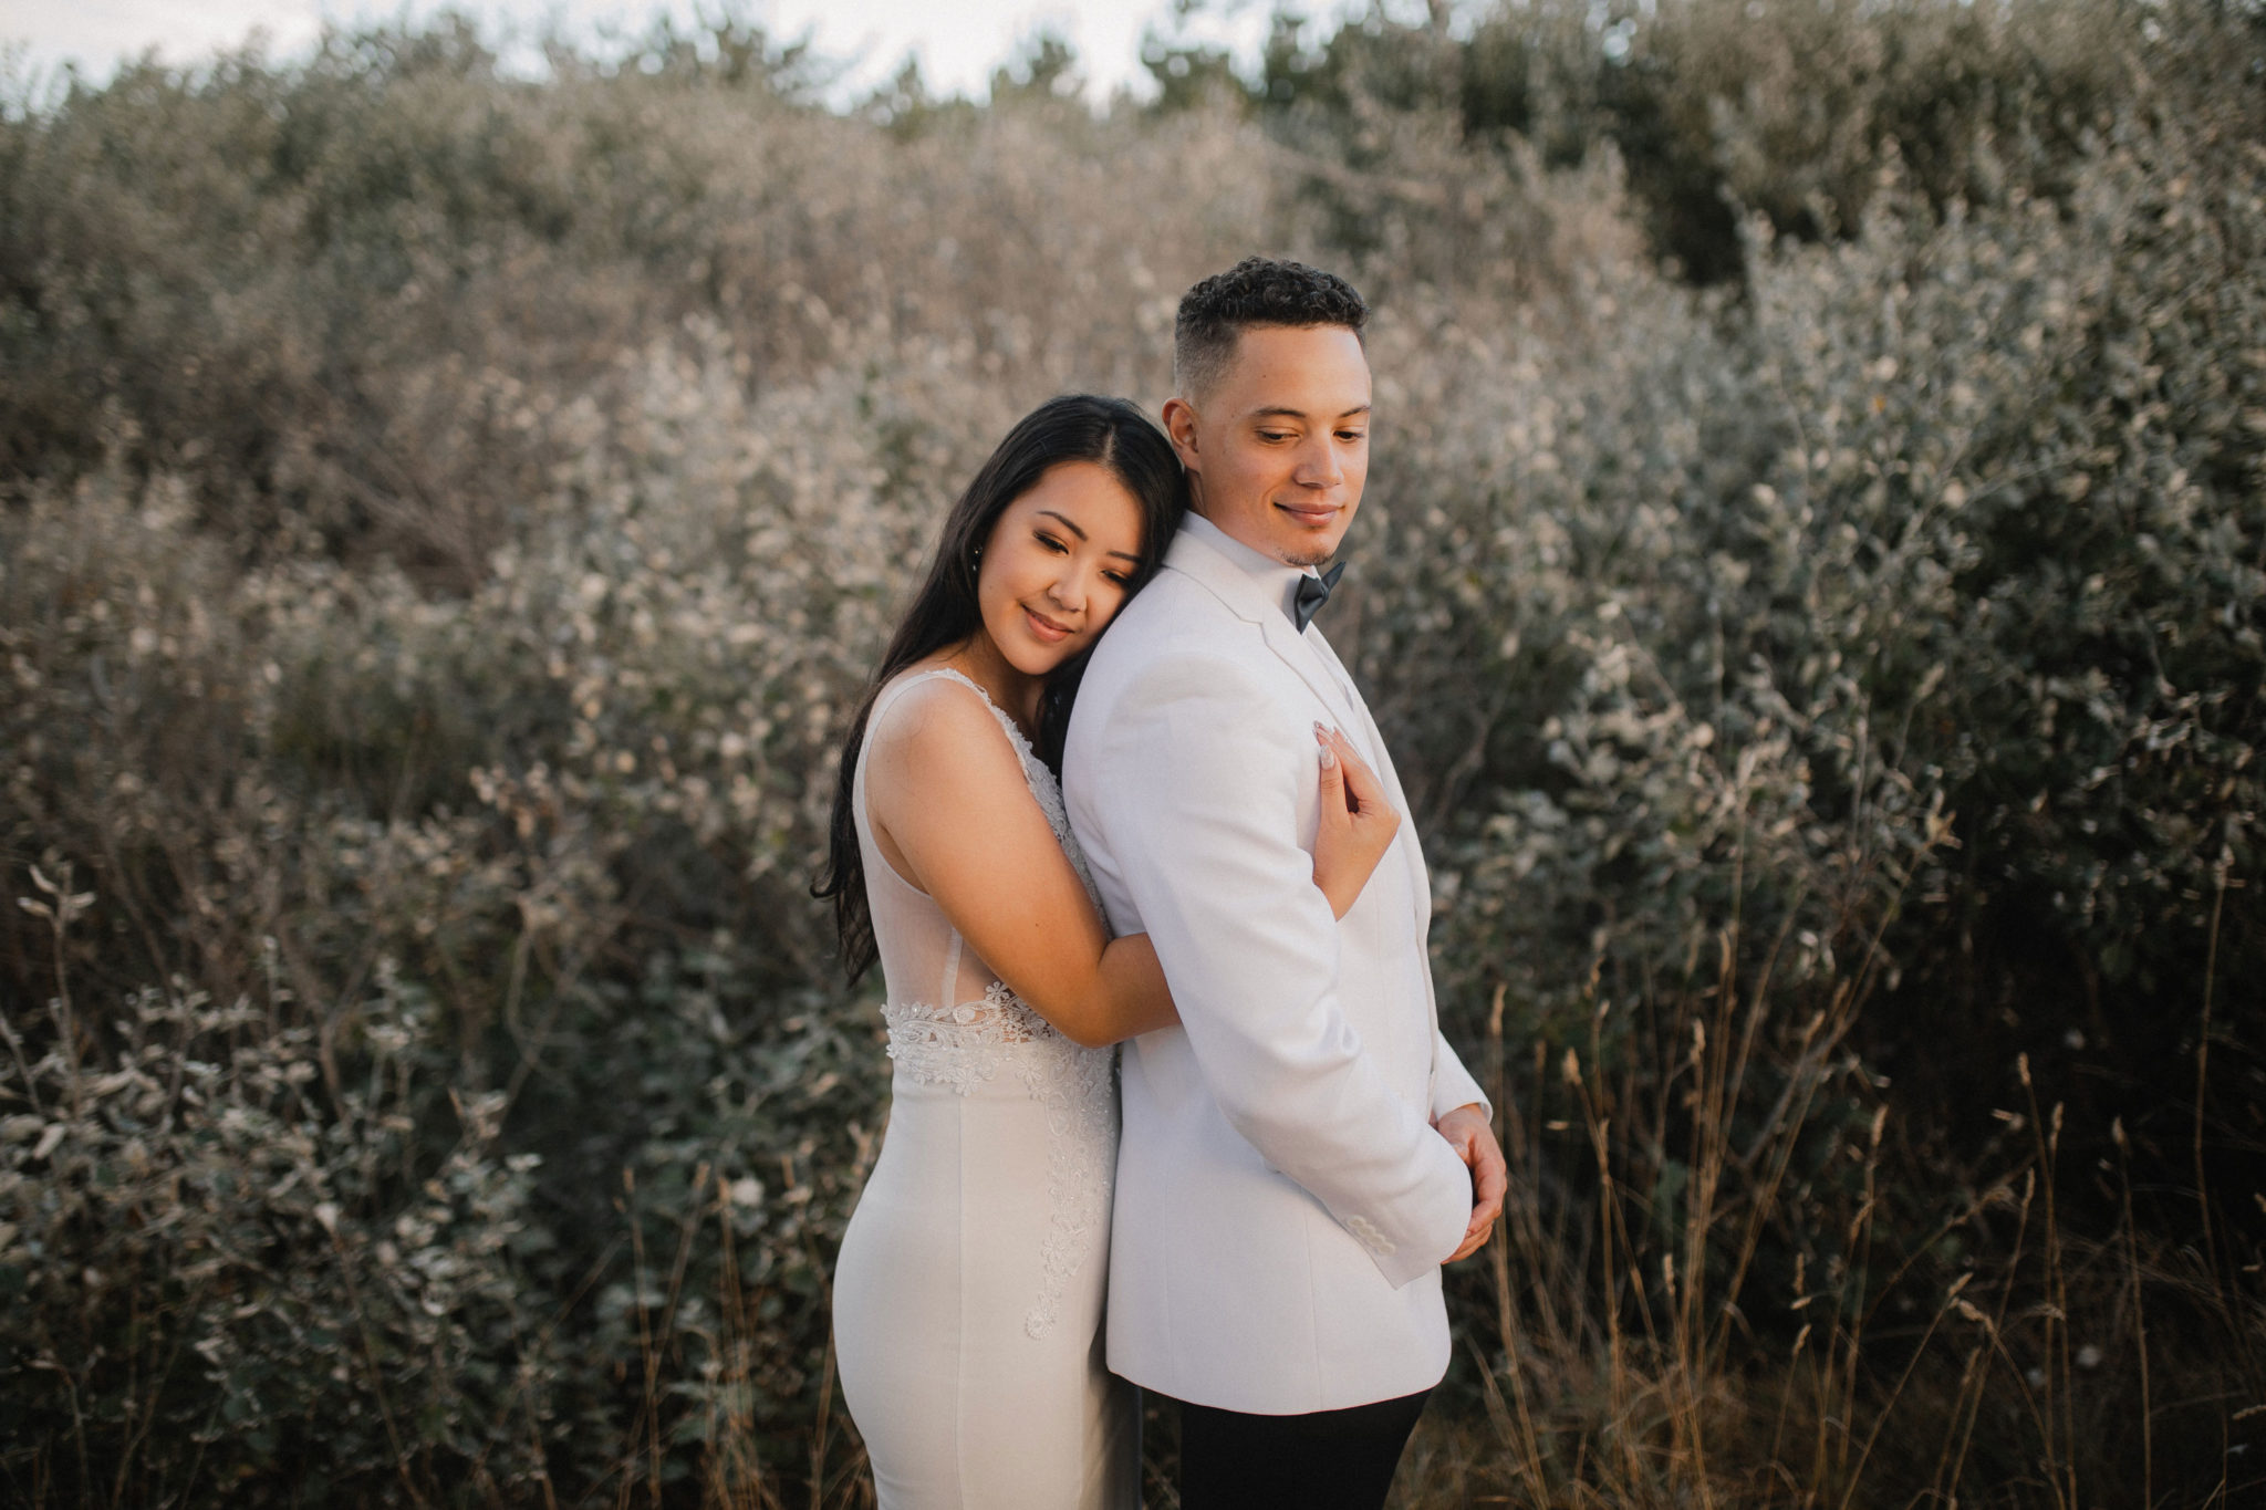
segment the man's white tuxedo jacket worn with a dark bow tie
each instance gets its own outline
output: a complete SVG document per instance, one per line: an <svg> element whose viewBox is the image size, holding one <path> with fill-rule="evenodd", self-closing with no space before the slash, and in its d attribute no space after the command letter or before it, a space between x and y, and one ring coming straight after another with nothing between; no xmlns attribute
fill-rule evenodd
<svg viewBox="0 0 2266 1510"><path fill-rule="evenodd" d="M1110 926L1149 933L1183 1021L1124 1046L1110 1370L1296 1415L1446 1372L1439 1266L1471 1173L1432 1118L1484 1098L1439 1035L1414 824L1341 921L1314 885L1314 720L1407 799L1328 643L1235 550L1187 525L1101 636L1063 790Z"/></svg>

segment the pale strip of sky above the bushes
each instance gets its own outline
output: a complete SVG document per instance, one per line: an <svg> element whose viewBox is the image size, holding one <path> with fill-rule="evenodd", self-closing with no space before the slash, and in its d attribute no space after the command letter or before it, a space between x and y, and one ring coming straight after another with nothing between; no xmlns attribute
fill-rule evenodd
<svg viewBox="0 0 2266 1510"><path fill-rule="evenodd" d="M202 63L263 29L267 54L290 57L315 41L324 20L426 18L440 9L480 18L489 36L505 27L535 32L548 18L596 38L605 27L641 32L659 11L691 20L721 7L714 0L705 7L700 0L455 0L453 7L444 0L0 0L0 43L11 48L16 72L75 61L104 79L120 57L152 48L165 63ZM1147 93L1144 29L1228 45L1251 63L1273 5L1212 0L1185 20L1176 20L1172 0L741 0L739 9L777 38L809 29L823 54L854 61L836 88L845 100L886 81L906 57L920 59L931 93L981 95L995 66L1040 29L1054 29L1076 50L1088 97L1101 102L1117 86ZM1339 14L1348 5L1323 0L1298 9Z"/></svg>

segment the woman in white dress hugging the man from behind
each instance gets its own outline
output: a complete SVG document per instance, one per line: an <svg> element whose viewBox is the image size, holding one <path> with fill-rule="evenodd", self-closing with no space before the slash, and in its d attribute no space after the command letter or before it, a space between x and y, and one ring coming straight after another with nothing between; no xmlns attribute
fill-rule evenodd
<svg viewBox="0 0 2266 1510"><path fill-rule="evenodd" d="M1110 940L1056 774L1085 652L1156 570L1185 480L1131 403L1054 398L945 521L852 720L832 896L888 987L891 1118L843 1234L834 1340L881 1510L1131 1510L1140 1415L1101 1299L1119 1039L1174 1021ZM1317 727L1314 881L1339 915L1398 815Z"/></svg>

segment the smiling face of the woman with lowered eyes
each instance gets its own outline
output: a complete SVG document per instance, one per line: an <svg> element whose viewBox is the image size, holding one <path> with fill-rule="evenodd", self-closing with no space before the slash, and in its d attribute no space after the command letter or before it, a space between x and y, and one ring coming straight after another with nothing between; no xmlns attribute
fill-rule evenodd
<svg viewBox="0 0 2266 1510"><path fill-rule="evenodd" d="M1058 462L983 541L983 629L1026 677L1094 643L1140 566L1140 503L1097 462Z"/></svg>

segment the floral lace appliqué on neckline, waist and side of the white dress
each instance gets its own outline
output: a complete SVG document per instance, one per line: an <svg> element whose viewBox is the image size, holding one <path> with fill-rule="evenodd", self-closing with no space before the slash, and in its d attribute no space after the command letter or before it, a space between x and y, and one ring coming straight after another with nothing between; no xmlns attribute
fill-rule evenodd
<svg viewBox="0 0 2266 1510"><path fill-rule="evenodd" d="M1022 736L1015 720L999 711L981 686L952 668L931 675L959 681L983 697L983 706L999 720L999 729L1006 731L1015 758L1022 763L1031 797L1047 815L1047 829L1063 844L1063 853L1070 856L1072 869L1099 910L1101 890L1070 833L1070 813L1063 808L1063 788L1054 772L1031 749L1031 740ZM993 980L981 1001L949 1007L891 1003L881 1007L881 1016L888 1023L888 1057L913 1080L943 1084L968 1096L979 1084L997 1080L1002 1069L1013 1066L1031 1100L1047 1109L1051 1229L1040 1252L1038 1297L1022 1322L1029 1336L1045 1338L1060 1320L1063 1290L1085 1266L1085 1254L1094 1247L1094 1232L1110 1213L1110 1179L1117 1168L1117 1098L1113 1093L1117 1050L1072 1044L1004 980Z"/></svg>

